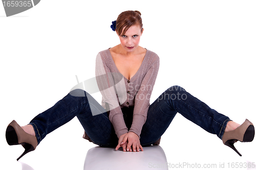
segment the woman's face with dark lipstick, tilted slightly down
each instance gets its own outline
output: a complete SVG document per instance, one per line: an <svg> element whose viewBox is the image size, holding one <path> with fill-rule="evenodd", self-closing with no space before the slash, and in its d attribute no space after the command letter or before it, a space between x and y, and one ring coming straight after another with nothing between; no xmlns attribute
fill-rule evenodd
<svg viewBox="0 0 256 170"><path fill-rule="evenodd" d="M131 26L123 36L119 35L121 46L126 52L134 52L136 50L139 46L142 32L139 25L134 25Z"/></svg>

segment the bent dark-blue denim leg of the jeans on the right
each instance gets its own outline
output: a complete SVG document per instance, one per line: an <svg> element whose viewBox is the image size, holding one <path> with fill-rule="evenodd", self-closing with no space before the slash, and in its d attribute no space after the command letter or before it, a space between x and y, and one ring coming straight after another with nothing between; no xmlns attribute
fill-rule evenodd
<svg viewBox="0 0 256 170"><path fill-rule="evenodd" d="M158 140L177 112L207 132L216 134L220 139L222 139L226 125L230 120L227 116L211 109L186 92L182 87L172 86L164 91L148 109L140 142L147 145Z"/></svg>

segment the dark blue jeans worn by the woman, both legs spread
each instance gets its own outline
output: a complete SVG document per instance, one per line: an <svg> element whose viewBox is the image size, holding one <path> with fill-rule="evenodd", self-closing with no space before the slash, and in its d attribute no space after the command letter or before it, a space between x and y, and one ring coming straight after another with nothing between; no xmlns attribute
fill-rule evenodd
<svg viewBox="0 0 256 170"><path fill-rule="evenodd" d="M81 93L84 93L84 96L79 96ZM88 98L91 98L90 104ZM101 114L93 116L92 110L94 113L98 111ZM31 120L30 125L35 130L39 144L47 134L77 116L93 143L101 147L116 147L118 137L108 113L102 110L103 107L90 94L76 89L50 109L38 114ZM122 108L122 112L126 127L130 129L133 107ZM147 119L140 135L142 147L155 143L166 131L177 112L207 132L216 134L220 139L230 121L227 116L209 108L182 87L172 86L165 90L148 109Z"/></svg>

